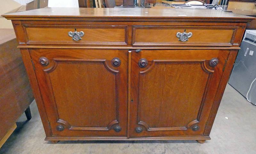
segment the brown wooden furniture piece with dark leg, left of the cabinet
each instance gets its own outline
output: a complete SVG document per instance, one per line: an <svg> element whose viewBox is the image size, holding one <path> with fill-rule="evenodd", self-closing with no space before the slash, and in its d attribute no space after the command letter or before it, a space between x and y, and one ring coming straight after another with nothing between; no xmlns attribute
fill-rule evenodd
<svg viewBox="0 0 256 154"><path fill-rule="evenodd" d="M17 127L34 100L13 29L0 29L0 148Z"/></svg>

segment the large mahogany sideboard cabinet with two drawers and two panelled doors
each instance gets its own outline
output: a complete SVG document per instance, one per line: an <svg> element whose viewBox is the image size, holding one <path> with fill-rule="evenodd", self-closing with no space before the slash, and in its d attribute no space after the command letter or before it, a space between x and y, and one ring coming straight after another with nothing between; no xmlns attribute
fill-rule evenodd
<svg viewBox="0 0 256 154"><path fill-rule="evenodd" d="M12 19L45 140L210 139L252 17L44 8Z"/></svg>

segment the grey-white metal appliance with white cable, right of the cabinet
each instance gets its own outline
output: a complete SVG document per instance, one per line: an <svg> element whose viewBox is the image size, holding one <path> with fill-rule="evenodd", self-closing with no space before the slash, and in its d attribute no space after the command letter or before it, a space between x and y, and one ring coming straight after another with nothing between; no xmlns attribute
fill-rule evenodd
<svg viewBox="0 0 256 154"><path fill-rule="evenodd" d="M246 30L228 83L256 105L256 30Z"/></svg>

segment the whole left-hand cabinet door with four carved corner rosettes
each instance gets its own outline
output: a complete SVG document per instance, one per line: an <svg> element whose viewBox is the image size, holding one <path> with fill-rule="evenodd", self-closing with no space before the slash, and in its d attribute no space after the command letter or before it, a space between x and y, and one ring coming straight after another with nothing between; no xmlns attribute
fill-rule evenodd
<svg viewBox="0 0 256 154"><path fill-rule="evenodd" d="M52 136L126 136L127 51L29 52Z"/></svg>

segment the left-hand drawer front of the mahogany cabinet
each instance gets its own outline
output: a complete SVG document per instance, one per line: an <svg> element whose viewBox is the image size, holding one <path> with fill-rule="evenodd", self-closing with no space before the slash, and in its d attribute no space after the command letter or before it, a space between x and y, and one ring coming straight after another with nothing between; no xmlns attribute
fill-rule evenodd
<svg viewBox="0 0 256 154"><path fill-rule="evenodd" d="M27 44L127 45L127 26L23 25ZM79 40L69 32L84 32Z"/></svg>

